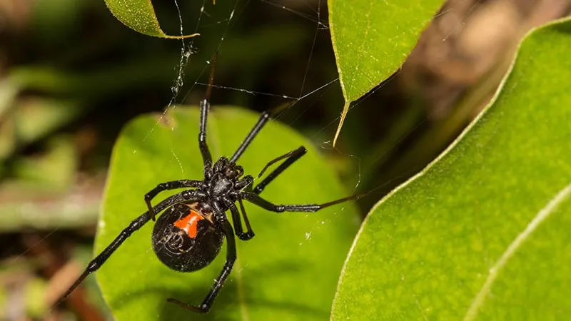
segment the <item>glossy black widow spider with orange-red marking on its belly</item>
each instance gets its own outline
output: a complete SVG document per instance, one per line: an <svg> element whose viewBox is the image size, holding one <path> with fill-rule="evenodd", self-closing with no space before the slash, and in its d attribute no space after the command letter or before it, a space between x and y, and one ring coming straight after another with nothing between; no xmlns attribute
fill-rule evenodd
<svg viewBox="0 0 571 321"><path fill-rule="evenodd" d="M149 220L156 220L156 215L165 210L156 220L151 243L158 259L173 270L193 272L206 267L216 258L222 247L223 240L226 237L228 242L226 263L224 263L220 275L214 281L214 285L204 298L202 304L196 307L173 298L167 299L168 302L176 303L194 312L208 312L208 310L211 309L216 295L218 295L226 278L228 278L234 261L236 260L236 241L234 239L234 233L236 233L236 236L241 240L250 240L254 237L248 216L246 215L246 210L244 210L243 200L248 200L254 205L258 205L271 212L316 212L328 206L343 203L348 200L355 200L362 196L353 195L347 198L333 200L329 203L302 205L276 205L259 196L266 185L271 183L272 180L278 177L278 175L306 152L305 147L300 146L270 161L261 170L258 177L261 177L271 165L285 159L283 163L278 165L276 169L268 174L268 176L254 188L252 187L253 177L251 175L243 175L243 168L240 165L236 165L236 161L238 161L238 158L246 151L246 148L250 145L251 141L253 141L253 138L260 133L263 126L271 117L279 113L283 107L273 108L270 111L262 113L256 125L254 125L250 133L248 133L248 136L242 141L233 156L230 159L221 157L216 163L213 163L211 153L208 150L208 144L206 143L206 118L208 118L208 110L210 108L209 99L212 91L215 63L216 55L213 59L208 89L200 103L198 147L200 148L204 164L203 180L174 180L160 183L156 188L146 193L145 203L148 207L148 211L133 220L103 252L97 255L94 260L91 260L86 270L79 276L76 282L74 282L74 285L71 285L59 302L65 300L89 274L98 270L133 232L141 228ZM154 207L151 206L151 200L158 193L177 188L189 189L166 198ZM236 203L240 206L240 210L238 210ZM226 211L228 210L230 210L232 215L234 228L232 228L226 216ZM246 225L246 232L244 232L242 228L241 216Z"/></svg>

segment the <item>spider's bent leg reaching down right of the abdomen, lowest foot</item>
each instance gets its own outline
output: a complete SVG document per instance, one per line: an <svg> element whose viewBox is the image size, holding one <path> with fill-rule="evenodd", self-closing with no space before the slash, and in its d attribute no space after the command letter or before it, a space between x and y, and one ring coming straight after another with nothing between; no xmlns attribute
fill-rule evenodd
<svg viewBox="0 0 571 321"><path fill-rule="evenodd" d="M232 225L228 222L226 215L221 214L220 208L216 203L214 208L216 208L219 218L218 222L221 224L226 240L228 241L228 245L226 246L226 263L224 263L224 267L222 267L220 275L218 275L218 278L214 281L214 285L211 287L210 292L208 292L208 295L206 295L202 304L198 307L187 305L186 303L173 298L166 299L168 302L176 303L177 305L193 312L206 313L210 310L214 299L216 299L218 292L220 292L224 282L226 282L226 279L228 278L228 275L230 275L232 267L234 266L234 262L236 261L236 240L234 239L234 230L232 229Z"/></svg>

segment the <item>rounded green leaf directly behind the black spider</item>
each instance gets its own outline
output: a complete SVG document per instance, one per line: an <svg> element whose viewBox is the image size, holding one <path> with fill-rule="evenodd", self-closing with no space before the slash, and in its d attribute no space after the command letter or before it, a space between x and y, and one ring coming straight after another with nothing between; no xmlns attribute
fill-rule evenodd
<svg viewBox="0 0 571 321"><path fill-rule="evenodd" d="M216 106L208 118L213 158L231 156L258 115ZM158 183L202 178L198 151L198 108L143 116L126 126L116 142L103 203L96 253L146 211L143 195ZM321 203L348 195L333 171L302 136L276 121L268 123L242 156L246 173L257 175L271 159L300 145L308 154L262 194L276 203ZM158 195L156 204L169 195ZM358 228L351 204L319 213L268 213L246 203L256 237L237 240L238 262L208 315L166 302L175 297L198 305L221 271L226 245L208 267L180 273L162 265L151 248L148 223L98 272L103 295L116 320L323 320L330 314L338 276Z"/></svg>

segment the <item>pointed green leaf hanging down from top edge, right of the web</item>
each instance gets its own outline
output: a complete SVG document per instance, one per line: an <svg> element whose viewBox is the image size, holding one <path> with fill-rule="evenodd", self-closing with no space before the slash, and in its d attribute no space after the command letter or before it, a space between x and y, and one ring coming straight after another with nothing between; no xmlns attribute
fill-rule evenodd
<svg viewBox="0 0 571 321"><path fill-rule="evenodd" d="M329 27L345 98L337 141L349 104L400 68L442 0L328 0Z"/></svg>

